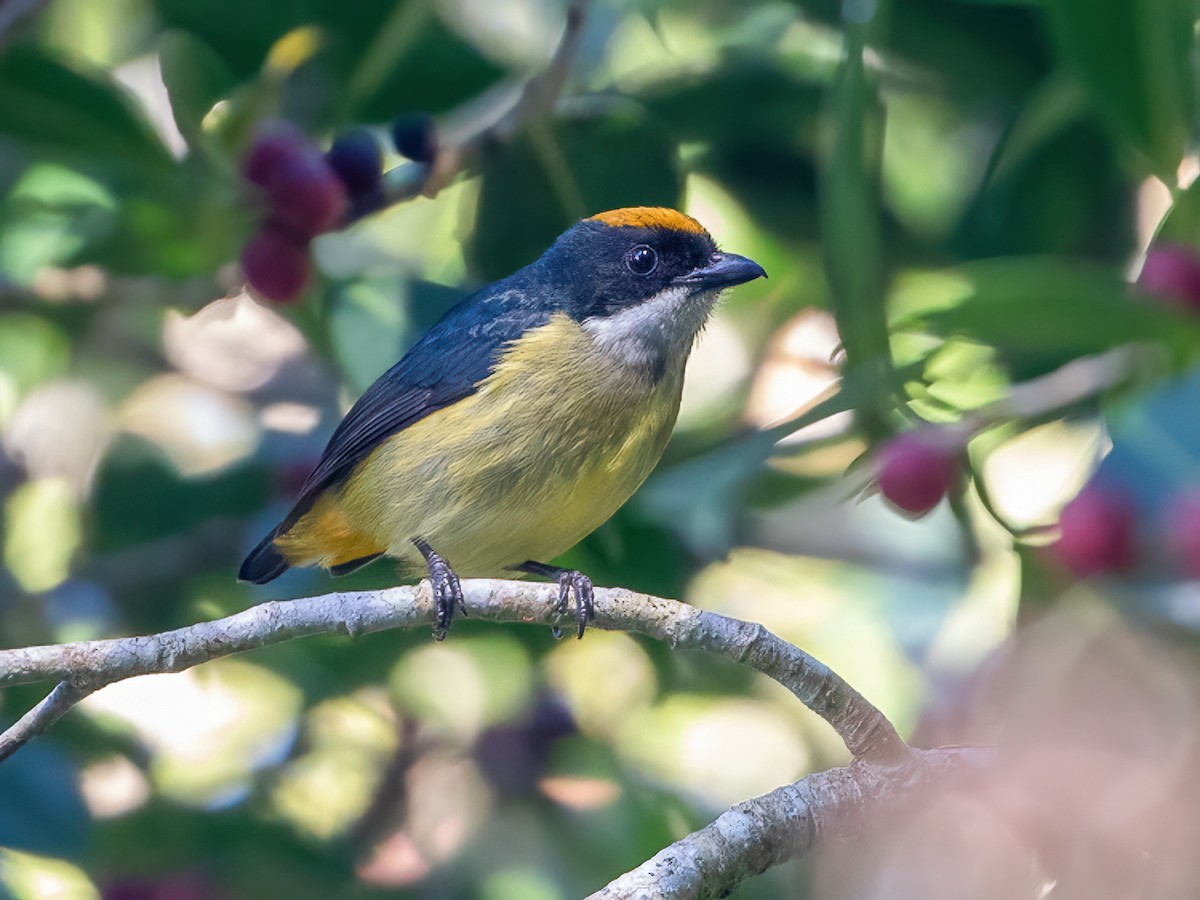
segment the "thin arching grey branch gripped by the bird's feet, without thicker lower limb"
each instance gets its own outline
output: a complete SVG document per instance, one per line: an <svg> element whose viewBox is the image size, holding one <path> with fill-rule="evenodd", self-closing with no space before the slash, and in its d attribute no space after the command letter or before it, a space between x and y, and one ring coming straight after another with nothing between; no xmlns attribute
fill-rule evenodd
<svg viewBox="0 0 1200 900"><path fill-rule="evenodd" d="M542 623L554 618L557 586L468 580L463 582L463 592L473 618ZM64 689L50 704L54 715L41 725L44 730L86 694L125 678L181 672L211 659L294 637L317 634L353 637L432 622L427 582L386 590L271 600L223 619L145 637L0 650L0 686L50 679L67 683L70 690ZM676 649L718 653L758 670L826 719L856 758L898 762L911 752L887 718L858 691L826 665L762 625L617 588L596 590L595 624L602 629L648 635ZM43 706L48 703L50 698L43 701ZM24 738L28 740L38 733L29 731L28 719L23 718L0 736L0 748L14 734L28 732Z"/></svg>

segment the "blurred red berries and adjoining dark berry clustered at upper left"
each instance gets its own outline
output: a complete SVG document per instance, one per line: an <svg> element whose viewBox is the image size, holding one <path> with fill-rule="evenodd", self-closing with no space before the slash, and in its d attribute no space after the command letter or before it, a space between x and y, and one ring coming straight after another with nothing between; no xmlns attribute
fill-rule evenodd
<svg viewBox="0 0 1200 900"><path fill-rule="evenodd" d="M322 155L295 126L264 125L242 175L266 197L266 221L241 252L246 281L263 298L289 302L312 276L308 242L340 226L356 198L379 190L383 158L370 134L350 132Z"/></svg>

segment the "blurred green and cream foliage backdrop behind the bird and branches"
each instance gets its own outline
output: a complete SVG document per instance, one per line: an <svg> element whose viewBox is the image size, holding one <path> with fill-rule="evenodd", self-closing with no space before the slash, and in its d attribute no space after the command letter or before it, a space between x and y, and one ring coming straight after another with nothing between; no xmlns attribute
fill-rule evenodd
<svg viewBox="0 0 1200 900"><path fill-rule="evenodd" d="M662 204L770 278L728 298L662 466L570 565L762 622L918 742L966 739L964 697L1014 625L1063 608L1084 632L1135 620L1190 672L1195 586L1152 564L1076 584L1040 545L1110 446L1148 520L1200 474L1196 386L1174 380L1200 319L1126 287L1164 216L1200 238L1194 5L598 1L550 116L436 197L319 238L299 304L242 293L256 122L326 144L413 112L470 128L563 19L558 0L0 4L4 644L394 583L386 562L266 588L235 570L451 302L581 216ZM856 496L892 433L1133 340L1133 390L983 432L929 517ZM47 686L7 690L4 718ZM444 644L304 640L114 685L0 766L0 884L580 896L845 761L778 685L641 638L463 620ZM868 895L810 876L737 895Z"/></svg>

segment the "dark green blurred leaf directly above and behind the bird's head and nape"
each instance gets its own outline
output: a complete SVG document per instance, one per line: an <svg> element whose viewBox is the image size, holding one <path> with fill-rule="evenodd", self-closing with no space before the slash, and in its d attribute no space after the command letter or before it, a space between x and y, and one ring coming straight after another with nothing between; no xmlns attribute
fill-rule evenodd
<svg viewBox="0 0 1200 900"><path fill-rule="evenodd" d="M482 280L532 263L583 216L679 205L683 176L674 144L641 109L562 118L533 128L484 160L468 246Z"/></svg>

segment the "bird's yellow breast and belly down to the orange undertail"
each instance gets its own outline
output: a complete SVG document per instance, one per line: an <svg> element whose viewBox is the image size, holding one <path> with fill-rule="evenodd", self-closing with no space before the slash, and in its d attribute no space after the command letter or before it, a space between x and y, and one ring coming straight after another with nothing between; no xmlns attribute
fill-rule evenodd
<svg viewBox="0 0 1200 900"><path fill-rule="evenodd" d="M552 559L649 475L682 384L683 360L652 382L556 316L474 395L380 444L276 544L293 565L385 552L415 568L420 536L462 576Z"/></svg>

